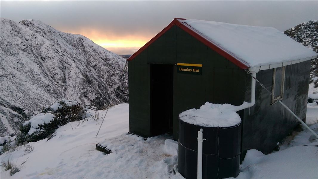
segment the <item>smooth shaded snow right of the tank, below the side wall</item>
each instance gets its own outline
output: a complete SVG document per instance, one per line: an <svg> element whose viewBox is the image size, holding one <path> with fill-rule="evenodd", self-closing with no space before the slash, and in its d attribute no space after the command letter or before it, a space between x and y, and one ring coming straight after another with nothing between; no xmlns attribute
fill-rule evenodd
<svg viewBox="0 0 318 179"><path fill-rule="evenodd" d="M310 128L318 134L317 123ZM310 142L310 136L308 129L301 131L268 155L248 150L237 178L318 178L318 140Z"/></svg>

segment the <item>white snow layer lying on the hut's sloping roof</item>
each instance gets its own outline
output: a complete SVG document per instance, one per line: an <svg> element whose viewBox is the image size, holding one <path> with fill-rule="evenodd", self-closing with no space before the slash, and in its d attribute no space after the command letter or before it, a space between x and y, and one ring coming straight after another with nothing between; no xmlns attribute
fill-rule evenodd
<svg viewBox="0 0 318 179"><path fill-rule="evenodd" d="M272 27L258 27L203 20L186 24L250 67L309 60L317 53ZM284 66L284 65L282 65Z"/></svg>

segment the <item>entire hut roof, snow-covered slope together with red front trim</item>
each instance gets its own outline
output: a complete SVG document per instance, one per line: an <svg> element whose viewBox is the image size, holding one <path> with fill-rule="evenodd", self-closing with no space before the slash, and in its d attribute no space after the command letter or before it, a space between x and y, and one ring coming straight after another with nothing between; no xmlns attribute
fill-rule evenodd
<svg viewBox="0 0 318 179"><path fill-rule="evenodd" d="M314 59L318 54L272 27L175 18L127 60L178 26L242 69L266 70Z"/></svg>

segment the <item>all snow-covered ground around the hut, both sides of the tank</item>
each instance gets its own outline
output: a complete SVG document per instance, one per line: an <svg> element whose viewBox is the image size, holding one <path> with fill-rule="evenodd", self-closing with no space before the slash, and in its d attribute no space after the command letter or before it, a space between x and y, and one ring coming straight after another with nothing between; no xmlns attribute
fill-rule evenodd
<svg viewBox="0 0 318 179"><path fill-rule="evenodd" d="M105 111L98 111L101 117ZM10 176L0 171L0 178L183 178L173 173L177 142L169 136L143 138L128 135L128 104L112 107L95 137L101 120L71 122L60 127L48 140L30 142L0 156L17 165L27 160L20 171ZM318 133L318 124L311 125ZM318 178L318 140L308 141L308 130L291 136L281 150L264 155L249 150L240 166L238 178ZM104 154L96 144L112 149Z"/></svg>

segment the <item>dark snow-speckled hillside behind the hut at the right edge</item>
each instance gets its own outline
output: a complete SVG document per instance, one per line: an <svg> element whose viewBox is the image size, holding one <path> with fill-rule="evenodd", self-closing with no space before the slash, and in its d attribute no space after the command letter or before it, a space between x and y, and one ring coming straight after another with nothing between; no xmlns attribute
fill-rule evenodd
<svg viewBox="0 0 318 179"><path fill-rule="evenodd" d="M298 43L307 46L318 53L318 21L308 21L298 24L284 32ZM311 61L311 82L318 87L318 59Z"/></svg>

